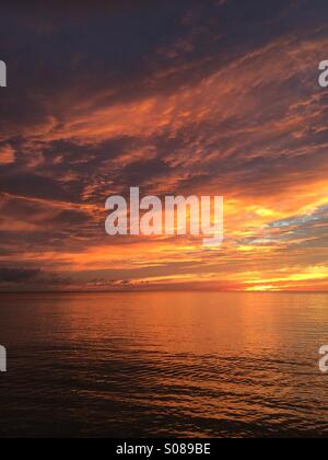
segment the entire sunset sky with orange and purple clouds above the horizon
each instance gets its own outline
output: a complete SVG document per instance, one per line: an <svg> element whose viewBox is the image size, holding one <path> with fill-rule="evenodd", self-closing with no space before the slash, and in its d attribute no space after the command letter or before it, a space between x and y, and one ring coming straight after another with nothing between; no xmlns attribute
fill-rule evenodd
<svg viewBox="0 0 328 460"><path fill-rule="evenodd" d="M328 290L326 0L1 4L0 290ZM224 196L224 242L106 198Z"/></svg>

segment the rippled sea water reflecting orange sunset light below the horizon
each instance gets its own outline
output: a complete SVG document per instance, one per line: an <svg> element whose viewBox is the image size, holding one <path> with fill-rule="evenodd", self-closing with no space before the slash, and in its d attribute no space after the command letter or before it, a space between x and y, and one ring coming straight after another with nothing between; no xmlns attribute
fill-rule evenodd
<svg viewBox="0 0 328 460"><path fill-rule="evenodd" d="M328 436L328 295L0 296L1 437Z"/></svg>

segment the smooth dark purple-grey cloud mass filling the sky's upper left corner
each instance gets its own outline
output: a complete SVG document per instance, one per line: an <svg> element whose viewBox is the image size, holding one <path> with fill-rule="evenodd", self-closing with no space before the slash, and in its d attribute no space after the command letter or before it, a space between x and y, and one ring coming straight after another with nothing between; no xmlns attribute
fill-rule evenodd
<svg viewBox="0 0 328 460"><path fill-rule="evenodd" d="M49 115L62 122L68 96L74 110L95 89L106 89L107 95L87 104L101 107L159 87L171 91L186 79L190 84L290 27L316 24L315 5L328 10L320 0L3 5L0 43L10 84L2 95L1 125L13 134L15 126L26 129ZM175 72L165 72L173 67Z"/></svg>

